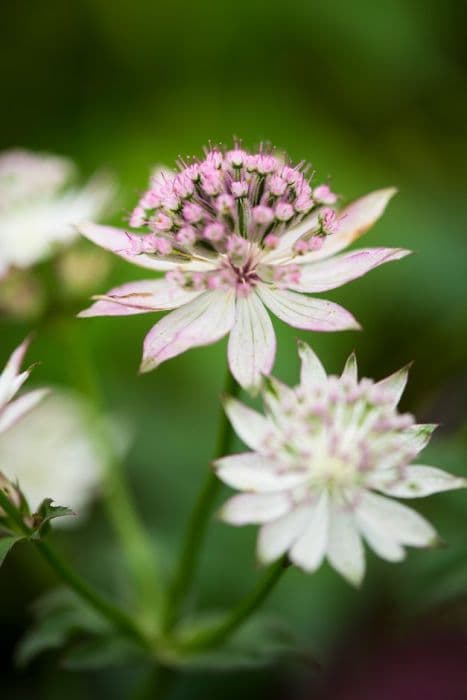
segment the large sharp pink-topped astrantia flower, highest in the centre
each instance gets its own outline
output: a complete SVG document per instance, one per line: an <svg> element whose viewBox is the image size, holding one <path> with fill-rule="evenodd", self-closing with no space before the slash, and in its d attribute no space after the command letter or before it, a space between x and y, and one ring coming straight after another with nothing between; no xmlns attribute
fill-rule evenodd
<svg viewBox="0 0 467 700"><path fill-rule="evenodd" d="M142 371L230 333L232 374L254 388L275 355L265 307L295 328L359 327L341 306L305 293L340 287L407 255L399 248L335 255L381 216L393 194L379 190L336 213L336 195L326 185L312 190L301 165L267 152L212 149L203 161L180 163L177 174L153 178L130 217L130 226L146 233L80 226L126 260L166 272L96 297L81 316L175 309L146 336Z"/></svg>

